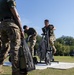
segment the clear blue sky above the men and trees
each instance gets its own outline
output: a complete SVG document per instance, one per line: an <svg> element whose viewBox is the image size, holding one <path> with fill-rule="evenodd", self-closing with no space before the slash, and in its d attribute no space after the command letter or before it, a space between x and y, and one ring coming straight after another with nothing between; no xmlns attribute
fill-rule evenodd
<svg viewBox="0 0 74 75"><path fill-rule="evenodd" d="M22 26L28 25L42 33L44 20L56 27L56 38L74 37L74 0L16 0Z"/></svg>

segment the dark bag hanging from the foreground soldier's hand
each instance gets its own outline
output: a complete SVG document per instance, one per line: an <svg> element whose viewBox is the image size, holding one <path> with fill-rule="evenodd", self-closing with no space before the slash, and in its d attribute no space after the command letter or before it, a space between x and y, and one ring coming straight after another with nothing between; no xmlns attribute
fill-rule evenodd
<svg viewBox="0 0 74 75"><path fill-rule="evenodd" d="M30 49L24 38L22 39L21 48L19 50L19 66L21 73L35 70Z"/></svg>

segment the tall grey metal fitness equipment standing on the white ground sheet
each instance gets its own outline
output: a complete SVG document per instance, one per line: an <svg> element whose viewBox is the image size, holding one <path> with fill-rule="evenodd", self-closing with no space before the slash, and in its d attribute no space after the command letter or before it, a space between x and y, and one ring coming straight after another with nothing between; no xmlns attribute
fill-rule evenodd
<svg viewBox="0 0 74 75"><path fill-rule="evenodd" d="M59 63L58 61L54 61L53 57L53 48L49 43L49 30L46 30L45 34L42 35L42 40L39 44L38 56L40 57L40 63L44 60L45 63L51 65L51 62Z"/></svg>

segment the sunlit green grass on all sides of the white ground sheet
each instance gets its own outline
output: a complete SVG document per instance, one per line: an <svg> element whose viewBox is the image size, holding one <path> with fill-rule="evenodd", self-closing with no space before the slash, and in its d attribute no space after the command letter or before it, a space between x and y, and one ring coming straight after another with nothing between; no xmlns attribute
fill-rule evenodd
<svg viewBox="0 0 74 75"><path fill-rule="evenodd" d="M55 60L60 62L72 62L74 63L74 57L56 56ZM0 75L11 75L11 67L3 67L4 73ZM69 70L57 70L57 69L45 69L35 70L28 73L28 75L74 75L74 68Z"/></svg>

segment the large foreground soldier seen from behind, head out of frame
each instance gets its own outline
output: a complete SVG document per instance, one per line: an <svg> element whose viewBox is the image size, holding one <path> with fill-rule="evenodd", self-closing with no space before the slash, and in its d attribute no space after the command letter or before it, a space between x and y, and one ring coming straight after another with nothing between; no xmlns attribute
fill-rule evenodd
<svg viewBox="0 0 74 75"><path fill-rule="evenodd" d="M10 44L10 55L12 63L12 75L22 75L19 70L18 52L21 45L20 17L16 10L15 0L0 0L0 33L2 48L0 50L0 73L3 72L2 65L4 57Z"/></svg>

